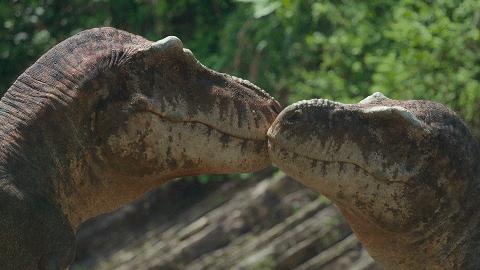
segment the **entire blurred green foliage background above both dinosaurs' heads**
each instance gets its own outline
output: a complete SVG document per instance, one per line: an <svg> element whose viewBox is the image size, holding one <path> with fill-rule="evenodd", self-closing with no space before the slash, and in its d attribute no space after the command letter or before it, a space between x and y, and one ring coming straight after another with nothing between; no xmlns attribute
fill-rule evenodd
<svg viewBox="0 0 480 270"><path fill-rule="evenodd" d="M382 91L445 103L480 133L477 0L12 0L0 18L0 90L59 41L111 25L177 35L284 104Z"/></svg>

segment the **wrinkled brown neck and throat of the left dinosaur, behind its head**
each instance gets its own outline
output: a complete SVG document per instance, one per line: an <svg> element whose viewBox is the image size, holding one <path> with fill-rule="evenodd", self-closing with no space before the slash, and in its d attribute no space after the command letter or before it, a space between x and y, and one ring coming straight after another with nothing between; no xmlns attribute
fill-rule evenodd
<svg viewBox="0 0 480 270"><path fill-rule="evenodd" d="M73 226L150 189L146 181L117 182L102 171L90 126L92 107L108 94L102 76L149 43L111 28L89 30L55 46L20 75L0 100L2 178L52 200Z"/></svg>

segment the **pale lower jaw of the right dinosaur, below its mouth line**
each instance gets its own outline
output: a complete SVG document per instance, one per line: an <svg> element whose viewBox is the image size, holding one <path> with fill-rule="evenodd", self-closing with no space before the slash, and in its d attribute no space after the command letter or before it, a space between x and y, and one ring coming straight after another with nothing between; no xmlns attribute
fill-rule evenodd
<svg viewBox="0 0 480 270"><path fill-rule="evenodd" d="M402 229L390 225L409 215L409 207L401 199L409 188L406 183L388 181L352 162L318 160L298 154L271 139L268 151L273 164L327 196L341 209L392 231Z"/></svg>

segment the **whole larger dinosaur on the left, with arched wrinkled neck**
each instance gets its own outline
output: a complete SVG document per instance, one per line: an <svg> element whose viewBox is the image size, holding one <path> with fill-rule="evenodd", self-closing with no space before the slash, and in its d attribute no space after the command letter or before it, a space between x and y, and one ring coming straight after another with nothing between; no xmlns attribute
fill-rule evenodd
<svg viewBox="0 0 480 270"><path fill-rule="evenodd" d="M64 269L84 220L175 177L268 165L279 111L176 37L98 28L63 41L0 101L0 269Z"/></svg>

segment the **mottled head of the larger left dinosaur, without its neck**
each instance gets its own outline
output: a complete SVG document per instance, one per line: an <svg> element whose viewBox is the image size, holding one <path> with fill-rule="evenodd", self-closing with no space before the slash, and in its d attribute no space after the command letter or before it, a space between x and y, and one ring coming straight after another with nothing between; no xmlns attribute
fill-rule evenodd
<svg viewBox="0 0 480 270"><path fill-rule="evenodd" d="M106 78L108 94L95 112L97 145L117 173L169 179L270 163L266 133L278 102L208 69L178 38L146 45Z"/></svg>

